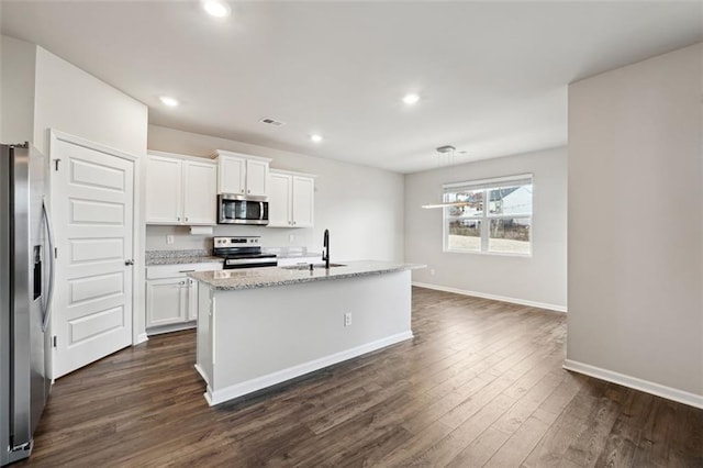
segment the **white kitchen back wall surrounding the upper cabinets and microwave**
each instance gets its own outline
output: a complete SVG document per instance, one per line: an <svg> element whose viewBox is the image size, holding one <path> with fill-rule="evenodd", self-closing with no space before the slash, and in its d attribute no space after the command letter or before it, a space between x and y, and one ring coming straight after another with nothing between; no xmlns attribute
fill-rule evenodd
<svg viewBox="0 0 703 468"><path fill-rule="evenodd" d="M265 247L304 246L311 252L322 252L322 235L328 229L334 260L403 259L400 174L156 125L149 126L148 147L203 157L215 149L227 149L270 157L272 168L319 176L313 229L216 226L215 235L260 235ZM175 235L175 244L166 244L167 234ZM205 248L208 238L192 236L186 227L147 226L146 249Z"/></svg>

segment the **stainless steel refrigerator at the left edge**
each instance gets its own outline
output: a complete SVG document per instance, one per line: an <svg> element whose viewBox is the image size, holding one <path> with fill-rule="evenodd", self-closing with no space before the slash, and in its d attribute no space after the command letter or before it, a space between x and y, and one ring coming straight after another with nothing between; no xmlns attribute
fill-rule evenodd
<svg viewBox="0 0 703 468"><path fill-rule="evenodd" d="M0 145L0 466L30 456L51 390L47 166L29 144Z"/></svg>

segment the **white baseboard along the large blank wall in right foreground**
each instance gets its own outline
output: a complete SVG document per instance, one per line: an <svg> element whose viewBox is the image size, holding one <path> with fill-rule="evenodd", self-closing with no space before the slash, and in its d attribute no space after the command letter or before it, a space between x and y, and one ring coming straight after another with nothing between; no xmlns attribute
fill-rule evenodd
<svg viewBox="0 0 703 468"><path fill-rule="evenodd" d="M638 379L637 377L626 376L624 374L602 369L600 367L571 359L566 359L562 367L567 370L584 374L587 376L595 377L596 379L606 380L609 382L644 391L645 393L656 394L657 397L666 398L667 400L678 401L679 403L703 409L703 395L700 394L677 390L660 383L650 382L648 380Z"/></svg>

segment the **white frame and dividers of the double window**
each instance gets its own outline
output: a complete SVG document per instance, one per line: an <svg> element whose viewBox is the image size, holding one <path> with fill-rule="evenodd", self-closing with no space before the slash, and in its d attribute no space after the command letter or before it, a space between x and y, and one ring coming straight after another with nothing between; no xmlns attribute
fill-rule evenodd
<svg viewBox="0 0 703 468"><path fill-rule="evenodd" d="M526 180L529 180L529 183L526 183ZM516 182L520 186L531 185L532 186L532 203L531 211L528 214L491 214L490 211L490 190L494 190L496 188L503 187L515 187ZM447 254L478 254L478 255L498 255L498 256L509 256L509 257L532 257L533 255L533 243L534 243L534 186L535 178L533 174L520 174L514 176L505 176L505 177L495 177L491 179L479 179L479 180L468 180L464 182L453 182L453 183L444 183L442 186L442 198L444 202L447 202L446 194L447 193L456 193L460 191L469 191L469 190L482 190L483 191L483 210L480 216L467 216L466 219L473 219L480 222L481 237L478 250L469 250L469 249L458 249L458 248L449 248L449 209L450 207L444 207L442 209L442 252ZM490 225L493 220L509 220L509 219L528 219L529 220L529 245L527 253L516 253L516 252L492 252L489 249L490 246Z"/></svg>

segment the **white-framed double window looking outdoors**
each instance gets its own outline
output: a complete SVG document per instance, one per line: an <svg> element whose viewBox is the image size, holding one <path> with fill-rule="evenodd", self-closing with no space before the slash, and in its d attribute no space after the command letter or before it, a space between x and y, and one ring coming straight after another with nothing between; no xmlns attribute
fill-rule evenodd
<svg viewBox="0 0 703 468"><path fill-rule="evenodd" d="M443 188L445 252L532 253L532 175Z"/></svg>

